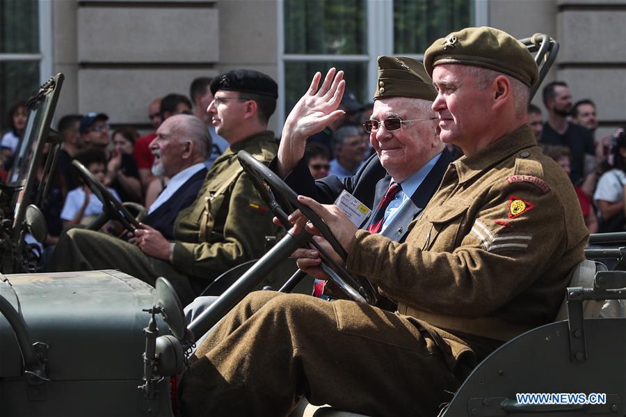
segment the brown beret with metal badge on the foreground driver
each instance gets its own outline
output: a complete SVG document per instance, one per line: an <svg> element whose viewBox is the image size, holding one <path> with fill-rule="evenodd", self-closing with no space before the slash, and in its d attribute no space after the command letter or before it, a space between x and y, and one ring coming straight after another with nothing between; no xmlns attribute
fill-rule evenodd
<svg viewBox="0 0 626 417"><path fill-rule="evenodd" d="M462 64L489 68L535 84L539 71L528 48L508 33L490 27L465 28L433 42L424 54L424 67L433 76L435 65Z"/></svg>

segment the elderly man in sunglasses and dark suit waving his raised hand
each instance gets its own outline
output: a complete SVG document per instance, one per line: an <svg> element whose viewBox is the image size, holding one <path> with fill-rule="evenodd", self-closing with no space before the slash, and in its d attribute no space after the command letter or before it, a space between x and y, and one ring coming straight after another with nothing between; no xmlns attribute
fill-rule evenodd
<svg viewBox="0 0 626 417"><path fill-rule="evenodd" d="M328 72L321 93L331 87L333 74ZM340 74L337 76L341 79ZM319 100L305 95L285 122L278 158L271 168L296 192L320 203L334 203L342 193L342 199L356 198L371 211L355 226L403 242L409 223L426 207L454 160L439 139L436 114L431 109L436 95L422 62L403 56L380 56L374 111L364 124L376 155L352 177L339 179L330 175L314 182L303 157L305 139L327 121L312 118ZM313 123L307 123L306 130L292 128L302 118ZM346 197L345 193L351 196ZM303 266L319 262L317 253L310 249L299 249L294 255ZM307 256L311 257L310 262ZM322 285L316 281L315 294L321 294Z"/></svg>

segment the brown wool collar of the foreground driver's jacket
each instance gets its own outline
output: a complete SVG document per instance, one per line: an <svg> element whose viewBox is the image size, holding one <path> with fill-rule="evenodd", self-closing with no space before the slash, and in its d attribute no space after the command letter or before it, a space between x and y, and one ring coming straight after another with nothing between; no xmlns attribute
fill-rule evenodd
<svg viewBox="0 0 626 417"><path fill-rule="evenodd" d="M458 182L469 181L495 164L511 157L515 152L536 145L537 141L531 127L522 125L510 134L490 143L472 157L461 157L453 162L458 173Z"/></svg>

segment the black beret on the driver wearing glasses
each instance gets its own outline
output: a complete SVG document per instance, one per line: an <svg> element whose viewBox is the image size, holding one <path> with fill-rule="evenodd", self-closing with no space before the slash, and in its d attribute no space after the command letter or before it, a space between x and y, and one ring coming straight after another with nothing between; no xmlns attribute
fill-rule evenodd
<svg viewBox="0 0 626 417"><path fill-rule="evenodd" d="M255 70L232 70L218 75L211 81L211 94L218 90L239 91L266 95L273 99L278 98L278 84L263 72Z"/></svg>

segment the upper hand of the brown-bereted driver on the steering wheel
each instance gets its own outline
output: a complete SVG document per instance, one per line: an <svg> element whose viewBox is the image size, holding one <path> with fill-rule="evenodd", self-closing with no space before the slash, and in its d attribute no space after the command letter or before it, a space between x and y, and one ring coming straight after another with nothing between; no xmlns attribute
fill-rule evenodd
<svg viewBox="0 0 626 417"><path fill-rule="evenodd" d="M346 252L350 250L358 228L353 225L342 209L334 204L320 204L316 200L305 196L298 196L298 201L313 210L326 223L326 226L332 231L332 235L335 236L337 242L342 245ZM300 210L296 210L289 215L289 221L294 225L294 233L300 233L300 230L305 228L308 233L321 236L320 231L307 220Z"/></svg>

